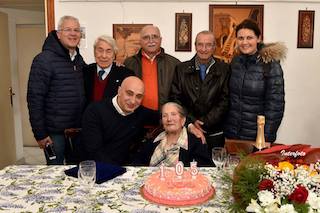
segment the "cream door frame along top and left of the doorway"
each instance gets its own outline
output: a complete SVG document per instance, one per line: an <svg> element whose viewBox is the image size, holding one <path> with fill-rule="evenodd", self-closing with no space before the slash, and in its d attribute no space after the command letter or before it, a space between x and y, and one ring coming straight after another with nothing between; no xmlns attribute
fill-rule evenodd
<svg viewBox="0 0 320 213"><path fill-rule="evenodd" d="M16 9L0 8L0 11L8 14L8 27L10 39L10 66L11 66L11 83L16 95L13 98L13 112L15 125L16 157L17 160L23 158L23 140L21 126L21 109L19 91L19 76L17 69L17 46L16 46L16 25L18 24L44 24L44 12L25 11ZM26 100L26 98L25 98Z"/></svg>

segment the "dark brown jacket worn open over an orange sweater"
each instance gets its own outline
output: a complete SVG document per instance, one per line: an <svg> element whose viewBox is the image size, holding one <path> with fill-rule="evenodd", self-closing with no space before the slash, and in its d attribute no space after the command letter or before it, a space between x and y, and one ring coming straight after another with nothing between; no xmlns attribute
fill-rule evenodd
<svg viewBox="0 0 320 213"><path fill-rule="evenodd" d="M142 53L141 49L136 54L127 58L124 65L133 70L139 78L142 78ZM158 66L158 97L159 97L159 109L168 101L171 82L173 79L174 69L177 64L180 63L175 57L168 55L161 48L161 52L156 56Z"/></svg>

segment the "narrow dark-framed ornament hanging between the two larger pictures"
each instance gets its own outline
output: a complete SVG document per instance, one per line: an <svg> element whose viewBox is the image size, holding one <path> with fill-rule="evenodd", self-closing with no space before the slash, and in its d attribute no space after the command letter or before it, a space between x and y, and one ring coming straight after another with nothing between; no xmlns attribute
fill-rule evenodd
<svg viewBox="0 0 320 213"><path fill-rule="evenodd" d="M175 51L190 52L192 44L192 13L176 13Z"/></svg>

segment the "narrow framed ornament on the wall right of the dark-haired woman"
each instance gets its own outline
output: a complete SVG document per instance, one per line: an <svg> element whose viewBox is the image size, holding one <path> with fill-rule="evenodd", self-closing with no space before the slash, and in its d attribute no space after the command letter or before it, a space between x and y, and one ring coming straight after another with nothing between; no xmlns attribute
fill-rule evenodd
<svg viewBox="0 0 320 213"><path fill-rule="evenodd" d="M313 48L314 10L299 10L297 48Z"/></svg>

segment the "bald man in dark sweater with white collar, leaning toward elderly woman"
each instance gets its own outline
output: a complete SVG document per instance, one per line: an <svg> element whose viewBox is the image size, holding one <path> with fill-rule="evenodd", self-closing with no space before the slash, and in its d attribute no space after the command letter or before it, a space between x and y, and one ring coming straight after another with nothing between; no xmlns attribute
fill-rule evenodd
<svg viewBox="0 0 320 213"><path fill-rule="evenodd" d="M123 80L118 94L89 105L81 132L81 159L117 165L129 163L131 147L139 142L144 124L159 123L159 113L141 105L143 82L134 76Z"/></svg>

